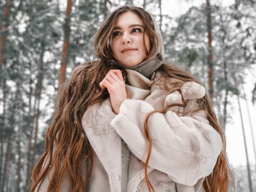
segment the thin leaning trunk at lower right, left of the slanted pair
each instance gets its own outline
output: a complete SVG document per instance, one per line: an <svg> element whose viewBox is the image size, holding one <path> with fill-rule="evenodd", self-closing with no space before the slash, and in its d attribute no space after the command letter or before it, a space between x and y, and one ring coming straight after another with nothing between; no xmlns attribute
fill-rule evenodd
<svg viewBox="0 0 256 192"><path fill-rule="evenodd" d="M237 101L238 101L238 107L239 107L239 114L241 118L241 123L242 123L242 130L243 130L243 138L244 138L244 148L245 148L245 156L246 156L246 162L247 162L247 177L248 177L248 182L249 182L249 190L250 192L253 192L252 190L252 180L251 180L251 170L250 170L250 163L249 163L249 157L248 157L248 151L247 151L247 145L246 145L246 137L245 137L245 132L244 132L244 122L243 122L243 116L242 116L242 110L241 110L241 105L240 105L240 99L239 95L237 95Z"/></svg>

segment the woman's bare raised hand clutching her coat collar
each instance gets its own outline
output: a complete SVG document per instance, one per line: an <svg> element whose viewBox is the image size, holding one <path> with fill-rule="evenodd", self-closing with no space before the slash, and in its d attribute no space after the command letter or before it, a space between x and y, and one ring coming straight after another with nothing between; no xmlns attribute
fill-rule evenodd
<svg viewBox="0 0 256 192"><path fill-rule="evenodd" d="M110 70L100 82L101 89L107 88L113 111L118 114L121 103L127 99L125 83L121 70Z"/></svg>

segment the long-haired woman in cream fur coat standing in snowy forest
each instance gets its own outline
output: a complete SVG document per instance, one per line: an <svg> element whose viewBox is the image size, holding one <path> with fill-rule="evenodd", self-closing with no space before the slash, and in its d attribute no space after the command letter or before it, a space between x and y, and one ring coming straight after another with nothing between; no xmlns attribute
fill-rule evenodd
<svg viewBox="0 0 256 192"><path fill-rule="evenodd" d="M115 10L95 51L60 93L31 191L227 191L225 136L205 89L163 62L150 14Z"/></svg>

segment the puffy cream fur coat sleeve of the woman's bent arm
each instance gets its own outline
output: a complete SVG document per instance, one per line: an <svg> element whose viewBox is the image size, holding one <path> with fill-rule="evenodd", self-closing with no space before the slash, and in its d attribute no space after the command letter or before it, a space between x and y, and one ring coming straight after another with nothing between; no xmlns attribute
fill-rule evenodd
<svg viewBox="0 0 256 192"><path fill-rule="evenodd" d="M205 94L204 88L197 83L186 84L181 91L189 106L195 106L196 100ZM175 91L167 95L164 102L165 105L181 102L181 95ZM145 117L154 110L146 101L126 99L111 122L131 152L143 162L147 156ZM177 183L193 186L212 172L222 141L218 132L209 125L204 111L199 110L193 116L179 116L173 110L154 113L148 119L152 140L149 166L166 173Z"/></svg>

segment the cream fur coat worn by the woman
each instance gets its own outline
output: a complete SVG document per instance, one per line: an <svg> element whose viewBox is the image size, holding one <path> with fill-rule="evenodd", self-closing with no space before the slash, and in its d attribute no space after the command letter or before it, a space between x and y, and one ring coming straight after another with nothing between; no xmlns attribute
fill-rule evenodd
<svg viewBox="0 0 256 192"><path fill-rule="evenodd" d="M145 117L153 110L181 103L178 91L167 94L158 84L161 73L156 73L159 80L154 84L136 71L128 69L127 73L129 99L123 101L119 114L112 111L107 99L89 107L82 119L86 137L95 152L88 186L92 192L148 191L141 163L146 158ZM222 149L220 135L209 125L205 111L189 113L198 108L196 100L205 95L204 87L188 82L182 86L181 93L188 100L185 108L172 107L165 114L151 115L148 121L153 142L148 177L156 192L199 191ZM131 151L126 190L121 190L122 139ZM46 191L48 183L46 178L40 191ZM61 187L61 191L71 190L65 178Z"/></svg>

